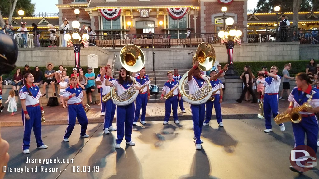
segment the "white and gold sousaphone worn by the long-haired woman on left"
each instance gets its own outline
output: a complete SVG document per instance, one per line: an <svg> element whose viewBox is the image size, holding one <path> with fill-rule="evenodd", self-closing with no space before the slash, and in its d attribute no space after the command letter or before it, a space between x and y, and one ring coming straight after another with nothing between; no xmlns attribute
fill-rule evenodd
<svg viewBox="0 0 319 179"><path fill-rule="evenodd" d="M122 67L130 72L140 71L145 65L145 55L143 51L133 44L124 46L120 51L119 58ZM135 78L130 75L131 74L127 74L127 78L131 78L133 83L135 83L135 86L138 86ZM110 96L113 103L117 106L126 106L134 102L139 91L133 86L134 85L131 85L130 88L126 89L121 96L117 96L115 88L111 87Z"/></svg>

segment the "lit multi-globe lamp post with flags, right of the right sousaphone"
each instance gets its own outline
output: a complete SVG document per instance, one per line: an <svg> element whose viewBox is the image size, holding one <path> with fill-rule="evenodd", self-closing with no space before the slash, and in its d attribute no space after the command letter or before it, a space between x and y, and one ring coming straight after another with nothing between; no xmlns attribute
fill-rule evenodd
<svg viewBox="0 0 319 179"><path fill-rule="evenodd" d="M237 27L233 28L234 19L233 18L227 18L225 21L227 27L223 29L222 31L218 32L218 37L221 38L221 44L226 44L227 49L227 63L228 70L225 72L225 78L226 79L234 79L239 78L235 72L235 67L233 64L233 49L234 49L234 41L237 41L241 45L241 34L242 32L240 30L237 30ZM234 41L233 41L234 40Z"/></svg>

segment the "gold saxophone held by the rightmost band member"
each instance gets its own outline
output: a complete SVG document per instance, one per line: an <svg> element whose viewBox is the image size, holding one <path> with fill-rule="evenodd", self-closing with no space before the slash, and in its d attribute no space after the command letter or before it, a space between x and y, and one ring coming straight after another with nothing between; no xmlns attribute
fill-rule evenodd
<svg viewBox="0 0 319 179"><path fill-rule="evenodd" d="M281 114L278 114L275 118L274 121L276 122L276 124L281 124L281 123L285 123L285 122L289 122L291 121L292 123L300 123L302 116L299 113L300 111L308 111L309 109L312 109L313 107L309 104L309 102L311 101L312 97L313 97L313 93L311 93L310 97L308 98L308 100L306 101L306 103L302 104L299 107L295 107L293 108L291 111L289 112L283 112Z"/></svg>

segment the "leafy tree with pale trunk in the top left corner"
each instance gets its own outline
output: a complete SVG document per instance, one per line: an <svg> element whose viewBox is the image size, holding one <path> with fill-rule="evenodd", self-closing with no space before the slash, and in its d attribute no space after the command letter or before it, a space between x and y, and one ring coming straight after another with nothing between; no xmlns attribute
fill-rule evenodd
<svg viewBox="0 0 319 179"><path fill-rule="evenodd" d="M31 16L34 13L35 4L31 0L0 0L0 25L4 25L3 17L9 18L19 17L18 11L22 9L25 12L24 16Z"/></svg>

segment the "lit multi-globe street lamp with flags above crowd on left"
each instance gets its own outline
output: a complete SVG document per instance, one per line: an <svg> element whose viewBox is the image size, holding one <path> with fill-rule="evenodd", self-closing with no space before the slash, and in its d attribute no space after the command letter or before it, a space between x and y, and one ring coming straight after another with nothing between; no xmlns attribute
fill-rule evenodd
<svg viewBox="0 0 319 179"><path fill-rule="evenodd" d="M78 14L80 13L80 11L78 9L75 9L74 13L77 15L76 17L78 19ZM79 34L80 23L78 20L72 21L71 26L73 28L73 31L70 32L71 34L70 33L65 34L64 40L66 40L68 42L67 47L73 46L73 50L74 50L74 54L75 54L75 67L80 68L81 67L81 63L80 63L81 46L80 46L80 44L83 43L83 46L85 48L89 47L89 43L87 40L90 37L87 33L84 33L82 35L82 38L81 38L81 36Z"/></svg>

